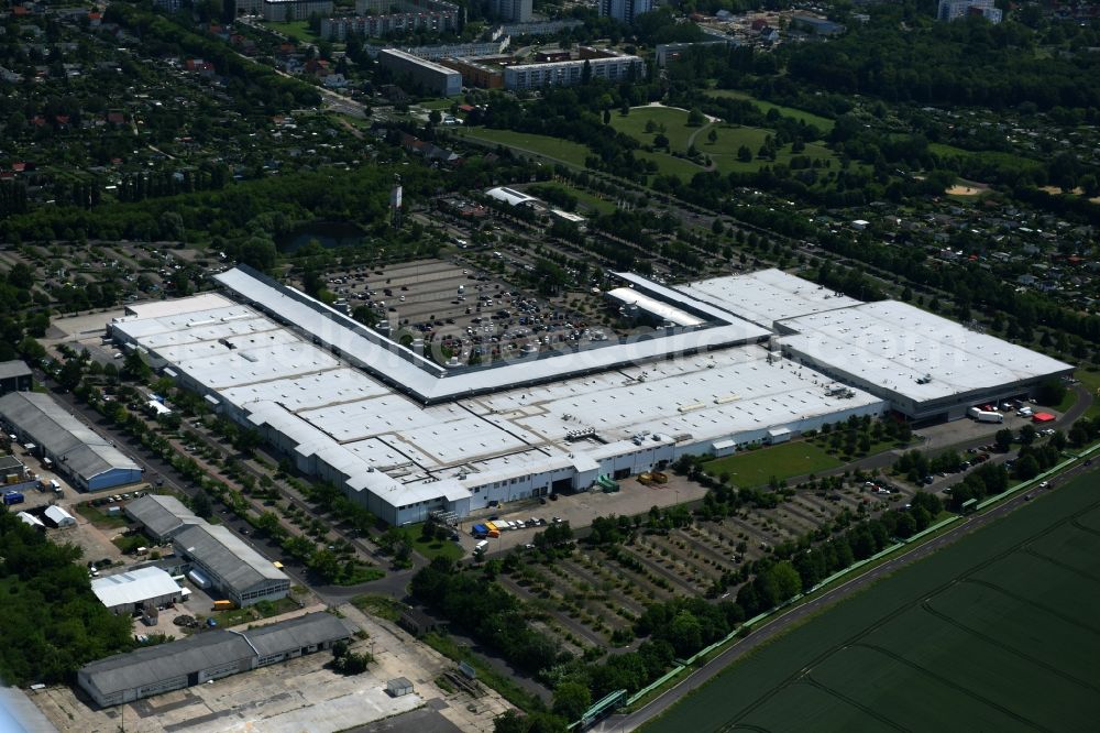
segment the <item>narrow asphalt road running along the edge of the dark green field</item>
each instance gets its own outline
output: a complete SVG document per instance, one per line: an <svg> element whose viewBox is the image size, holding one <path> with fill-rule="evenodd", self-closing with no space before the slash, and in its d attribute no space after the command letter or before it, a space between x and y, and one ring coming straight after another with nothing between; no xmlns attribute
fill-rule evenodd
<svg viewBox="0 0 1100 733"><path fill-rule="evenodd" d="M1084 411L1081 411L1084 412ZM1054 491L1063 482L1088 471L1094 471L1094 466L1086 467L1080 463L1068 471L1063 472L1058 479L1052 481L1050 488L1046 491ZM1027 502L1028 497L1038 493L1042 490L1033 490L1026 494L1016 494L1012 499L1004 501L1003 503L997 505L992 510L975 515L971 517L965 517L948 528L944 534L939 535L935 539L932 539L923 545L914 547L913 549L898 555L890 560L883 562L882 565L869 570L868 572L853 578L848 582L842 583L836 588L833 588L822 595L803 603L802 605L795 606L791 611L767 622L763 626L755 630L749 636L736 643L734 646L729 647L717 657L712 659L705 666L693 672L690 677L684 679L682 682L675 687L668 690L664 694L657 698L645 708L637 710L628 715L613 715L605 720L603 723L592 729L594 731L600 731L601 733L610 733L610 731L634 731L648 721L657 718L666 710L678 703L685 694L692 690L702 687L703 685L711 681L714 677L719 675L726 667L750 653L752 649L757 648L761 644L776 638L777 636L783 634L784 632L792 628L794 625L801 623L809 616L846 599L850 595L858 593L859 591L866 589L870 584L877 582L878 580L893 573L894 571L915 562L922 558L925 558L933 553L939 550L941 548L960 539L965 535L980 529L992 522L996 522L1003 517L1009 512L1013 512L1021 505Z"/></svg>

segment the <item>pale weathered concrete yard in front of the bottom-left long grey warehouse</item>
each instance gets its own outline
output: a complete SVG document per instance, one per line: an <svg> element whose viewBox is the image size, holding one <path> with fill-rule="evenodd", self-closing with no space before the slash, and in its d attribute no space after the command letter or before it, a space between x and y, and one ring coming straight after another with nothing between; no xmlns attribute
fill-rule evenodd
<svg viewBox="0 0 1100 733"><path fill-rule="evenodd" d="M332 655L322 652L107 710L89 708L82 696L78 698L67 687L42 690L33 700L58 730L81 733L117 733L122 726L139 733L320 733L421 708L431 711L432 719L442 719L425 730L488 733L493 719L509 708L488 689L476 699L464 692L443 692L433 680L453 669L451 661L388 622L351 605L340 611L369 634L353 647L375 657L362 675L333 672L326 667ZM389 697L386 681L394 677L409 679L414 693Z"/></svg>

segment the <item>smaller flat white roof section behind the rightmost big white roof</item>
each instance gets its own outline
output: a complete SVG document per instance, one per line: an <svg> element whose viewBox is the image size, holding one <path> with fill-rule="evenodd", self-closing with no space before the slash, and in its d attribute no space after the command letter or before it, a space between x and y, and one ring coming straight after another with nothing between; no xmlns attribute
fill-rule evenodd
<svg viewBox="0 0 1100 733"><path fill-rule="evenodd" d="M861 303L776 269L747 275L713 277L675 287L681 293L765 328L771 328L774 321L784 318L847 308Z"/></svg>

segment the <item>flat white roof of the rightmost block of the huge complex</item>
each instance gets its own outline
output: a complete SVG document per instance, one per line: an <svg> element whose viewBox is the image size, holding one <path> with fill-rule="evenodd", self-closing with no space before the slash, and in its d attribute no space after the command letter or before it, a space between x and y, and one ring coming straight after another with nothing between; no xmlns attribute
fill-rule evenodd
<svg viewBox="0 0 1100 733"><path fill-rule="evenodd" d="M1072 370L895 300L803 316L780 326L794 331L780 339L784 347L914 402ZM925 376L931 379L925 382Z"/></svg>

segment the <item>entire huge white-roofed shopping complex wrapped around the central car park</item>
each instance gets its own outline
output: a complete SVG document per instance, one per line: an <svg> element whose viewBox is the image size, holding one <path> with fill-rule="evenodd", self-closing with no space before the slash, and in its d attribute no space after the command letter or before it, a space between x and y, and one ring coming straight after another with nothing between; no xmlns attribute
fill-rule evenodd
<svg viewBox="0 0 1100 733"><path fill-rule="evenodd" d="M661 328L503 364L438 364L246 267L216 277L235 300L175 300L173 313L133 314L111 332L300 471L393 524L585 491L601 475L728 455L891 408L954 418L958 404L1069 369L777 270L680 286L616 276L614 297ZM927 366L917 365L925 362L912 355L915 386L893 389L890 370L904 359L864 343L888 333L924 339L906 343L912 354L938 339L938 352L950 354L943 384L930 389ZM964 379L970 360L980 373Z"/></svg>

